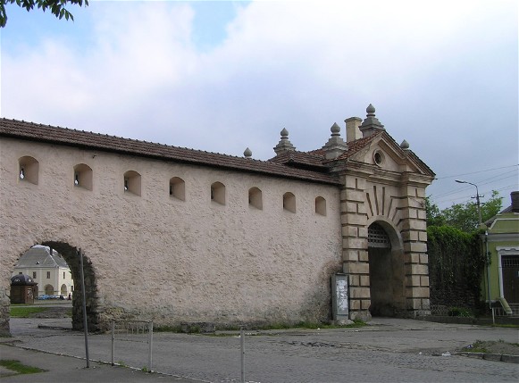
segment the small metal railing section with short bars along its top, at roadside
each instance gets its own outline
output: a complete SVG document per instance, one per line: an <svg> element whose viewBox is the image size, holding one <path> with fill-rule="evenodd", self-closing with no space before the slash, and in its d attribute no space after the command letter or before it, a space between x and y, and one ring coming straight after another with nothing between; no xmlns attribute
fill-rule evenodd
<svg viewBox="0 0 519 383"><path fill-rule="evenodd" d="M153 321L112 321L112 365L116 341L147 343L147 369L153 371Z"/></svg>

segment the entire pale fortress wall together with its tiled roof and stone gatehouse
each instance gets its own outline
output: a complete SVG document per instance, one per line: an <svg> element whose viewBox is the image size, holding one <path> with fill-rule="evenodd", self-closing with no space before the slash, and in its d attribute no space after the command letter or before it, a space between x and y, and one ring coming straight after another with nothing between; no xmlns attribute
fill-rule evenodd
<svg viewBox="0 0 519 383"><path fill-rule="evenodd" d="M347 274L349 318L429 312L424 195L434 173L376 119L337 124L269 161L0 120L0 332L30 246L51 246L88 326L110 319L219 326L329 321ZM58 288L58 287L56 287ZM73 325L80 329L80 294Z"/></svg>

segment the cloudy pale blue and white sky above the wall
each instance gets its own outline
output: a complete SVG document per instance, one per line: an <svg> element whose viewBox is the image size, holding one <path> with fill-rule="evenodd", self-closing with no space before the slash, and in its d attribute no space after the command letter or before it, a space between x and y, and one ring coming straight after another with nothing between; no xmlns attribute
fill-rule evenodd
<svg viewBox="0 0 519 383"><path fill-rule="evenodd" d="M74 21L9 4L0 117L267 160L320 148L368 104L436 173L440 208L519 190L518 4L96 1Z"/></svg>

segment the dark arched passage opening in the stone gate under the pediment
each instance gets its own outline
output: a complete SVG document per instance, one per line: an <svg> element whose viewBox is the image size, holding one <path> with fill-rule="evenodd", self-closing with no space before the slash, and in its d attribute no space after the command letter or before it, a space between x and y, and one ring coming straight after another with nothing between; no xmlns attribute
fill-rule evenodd
<svg viewBox="0 0 519 383"><path fill-rule="evenodd" d="M384 221L368 227L370 312L372 316L399 316L406 311L404 254L401 238Z"/></svg>

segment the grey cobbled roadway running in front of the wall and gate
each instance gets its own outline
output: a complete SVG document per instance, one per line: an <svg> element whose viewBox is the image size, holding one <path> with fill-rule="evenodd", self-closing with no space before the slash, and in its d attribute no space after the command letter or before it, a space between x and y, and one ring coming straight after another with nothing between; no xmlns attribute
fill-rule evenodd
<svg viewBox="0 0 519 383"><path fill-rule="evenodd" d="M23 325L13 321L17 320L12 320L16 346L85 356L82 333L36 329L36 320L26 320ZM57 320L38 323L45 321ZM360 329L247 332L245 377L248 382L261 383L519 380L519 364L455 354L456 349L476 340L519 342L517 329L397 319L376 319ZM88 348L90 359L109 362L110 334L89 335ZM118 340L115 361L146 367L147 348L146 336ZM240 379L240 341L236 334L155 333L153 353L154 371L211 382Z"/></svg>

